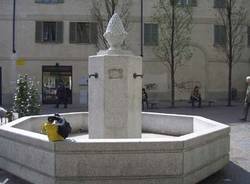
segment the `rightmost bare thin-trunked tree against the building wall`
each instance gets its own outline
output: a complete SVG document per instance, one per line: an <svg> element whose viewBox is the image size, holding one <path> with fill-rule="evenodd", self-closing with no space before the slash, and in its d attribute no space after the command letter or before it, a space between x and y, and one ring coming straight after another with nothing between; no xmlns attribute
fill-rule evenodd
<svg viewBox="0 0 250 184"><path fill-rule="evenodd" d="M225 54L225 62L228 64L228 102L231 106L232 101L232 69L233 64L238 62L242 50L245 47L245 26L247 11L239 4L238 0L224 0L217 8L219 22L225 30L225 41L222 50Z"/></svg>

